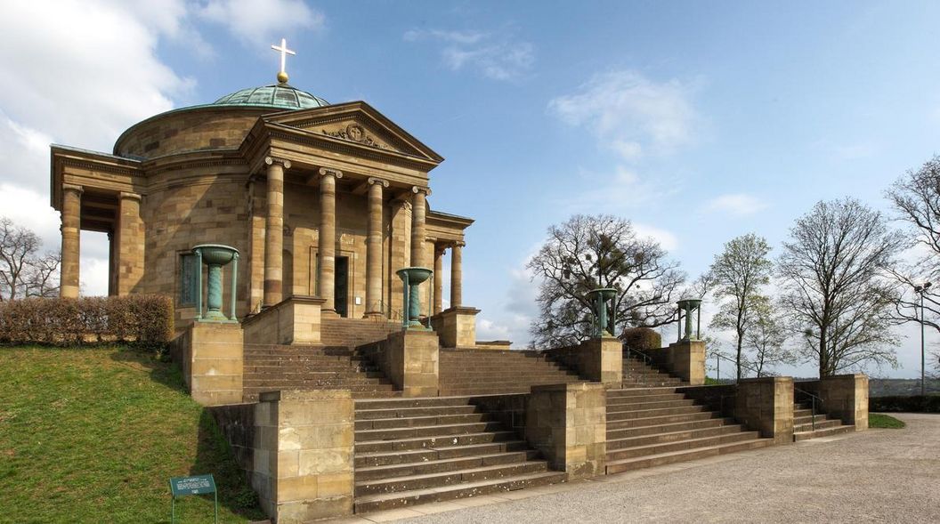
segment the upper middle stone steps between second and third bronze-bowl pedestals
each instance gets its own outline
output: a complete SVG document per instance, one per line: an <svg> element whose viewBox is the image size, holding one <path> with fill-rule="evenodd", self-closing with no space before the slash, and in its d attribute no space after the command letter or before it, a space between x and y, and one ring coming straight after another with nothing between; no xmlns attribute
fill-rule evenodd
<svg viewBox="0 0 940 524"><path fill-rule="evenodd" d="M538 351L442 348L438 373L442 395L529 393L538 384L582 381Z"/></svg>

